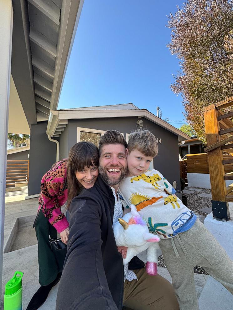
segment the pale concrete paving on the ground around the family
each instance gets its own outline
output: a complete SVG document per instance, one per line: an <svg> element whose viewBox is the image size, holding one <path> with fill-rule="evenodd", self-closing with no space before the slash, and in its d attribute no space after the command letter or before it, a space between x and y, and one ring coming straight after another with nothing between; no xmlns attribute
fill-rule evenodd
<svg viewBox="0 0 233 310"><path fill-rule="evenodd" d="M23 194L25 196L27 195L27 193L23 193ZM10 199L10 200L13 199L13 201L6 202L4 246L6 245L7 240L9 239L9 236L11 236L16 219L18 217L25 218L27 216L30 216L30 218L34 218L36 216L37 207L38 207L38 198L22 200L22 193L19 193L18 197L17 195L8 196L6 197L6 201L7 199ZM31 231L30 231L30 234L32 234ZM25 237L25 244L26 243L27 242L26 242L26 237ZM38 282L39 271L38 271L37 255L38 255L37 244L31 245L29 247L20 248L12 252L4 253L3 255L2 300L3 300L6 282L11 277L13 277L13 274L16 270L23 271L24 272L24 275L23 275L23 310L26 310L28 302L30 301L31 297L36 292L36 290L39 288L39 282ZM170 274L166 268L158 267L158 273L171 282ZM221 300L218 300L218 298L216 297L217 296L216 294L210 295L210 292L208 292L208 287L206 288L205 286L205 283L208 278L211 278L211 277L203 275L203 274L195 274L196 290L197 290L198 297L201 300L200 310L210 309L210 307L207 306L208 300L210 299L211 299L211 310L232 309L233 302L231 302L231 298L232 298L231 294L228 294L228 295L226 294L225 303L223 303ZM49 293L49 296L46 302L44 303L42 307L40 307L40 310L55 310L55 302L56 302L56 294L57 294L58 285L53 287L53 289ZM220 289L225 289L224 287L222 287L221 284L219 286L220 286ZM203 289L204 287L205 289ZM214 307L215 304L216 304L216 307Z"/></svg>

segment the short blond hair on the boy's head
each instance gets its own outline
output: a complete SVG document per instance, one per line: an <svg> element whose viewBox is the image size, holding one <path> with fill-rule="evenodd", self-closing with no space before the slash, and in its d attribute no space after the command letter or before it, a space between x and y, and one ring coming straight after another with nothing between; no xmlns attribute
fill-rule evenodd
<svg viewBox="0 0 233 310"><path fill-rule="evenodd" d="M137 150L148 157L155 157L158 154L155 136L149 130L143 128L134 130L129 134L127 149L129 153Z"/></svg>

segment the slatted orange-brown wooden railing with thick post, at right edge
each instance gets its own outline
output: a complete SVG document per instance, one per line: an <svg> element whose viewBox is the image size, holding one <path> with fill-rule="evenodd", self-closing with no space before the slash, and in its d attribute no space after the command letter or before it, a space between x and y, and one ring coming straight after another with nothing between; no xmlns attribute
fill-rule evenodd
<svg viewBox="0 0 233 310"><path fill-rule="evenodd" d="M232 105L233 97L230 97L203 109L213 216L225 220L230 219L229 202L233 202L233 183L228 187L225 185L225 180L233 180L233 123L229 119L233 112L224 113L222 109ZM224 160L223 151L230 153L232 158ZM229 169L232 172L226 173Z"/></svg>

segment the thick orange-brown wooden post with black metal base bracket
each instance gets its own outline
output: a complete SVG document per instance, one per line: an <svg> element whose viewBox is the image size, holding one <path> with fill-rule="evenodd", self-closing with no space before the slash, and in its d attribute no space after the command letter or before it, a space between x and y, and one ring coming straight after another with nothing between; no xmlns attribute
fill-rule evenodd
<svg viewBox="0 0 233 310"><path fill-rule="evenodd" d="M215 105L204 111L205 133L207 147L220 141L218 112ZM229 207L225 200L226 185L224 179L224 166L222 164L223 154L221 147L208 152L208 162L210 171L210 184L212 191L213 216L217 218L229 219Z"/></svg>

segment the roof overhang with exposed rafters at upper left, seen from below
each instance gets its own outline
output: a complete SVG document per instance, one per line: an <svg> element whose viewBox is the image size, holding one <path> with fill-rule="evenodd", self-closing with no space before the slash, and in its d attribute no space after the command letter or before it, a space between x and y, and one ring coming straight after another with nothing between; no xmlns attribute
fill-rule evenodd
<svg viewBox="0 0 233 310"><path fill-rule="evenodd" d="M57 108L83 2L13 0L11 74L28 124L11 126L17 119L12 100L8 132L30 133L32 124L48 120Z"/></svg>

